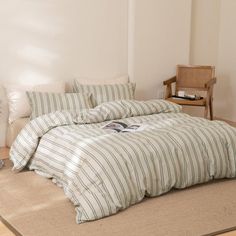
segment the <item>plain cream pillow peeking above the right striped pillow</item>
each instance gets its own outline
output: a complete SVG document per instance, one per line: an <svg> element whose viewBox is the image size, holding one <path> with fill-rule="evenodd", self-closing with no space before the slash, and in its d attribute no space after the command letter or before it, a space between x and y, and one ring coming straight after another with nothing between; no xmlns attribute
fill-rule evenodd
<svg viewBox="0 0 236 236"><path fill-rule="evenodd" d="M121 77L117 78L79 78L76 79L76 81L80 84L93 84L93 85L98 85L98 84L127 84L129 82L129 77L128 75L124 75Z"/></svg>

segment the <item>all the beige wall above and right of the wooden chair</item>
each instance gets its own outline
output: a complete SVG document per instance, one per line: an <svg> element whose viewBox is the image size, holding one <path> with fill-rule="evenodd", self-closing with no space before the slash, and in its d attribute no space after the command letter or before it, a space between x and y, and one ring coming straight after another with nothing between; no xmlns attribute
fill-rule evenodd
<svg viewBox="0 0 236 236"><path fill-rule="evenodd" d="M193 0L190 63L216 66L214 115L236 121L236 1ZM202 111L191 109L202 116Z"/></svg>

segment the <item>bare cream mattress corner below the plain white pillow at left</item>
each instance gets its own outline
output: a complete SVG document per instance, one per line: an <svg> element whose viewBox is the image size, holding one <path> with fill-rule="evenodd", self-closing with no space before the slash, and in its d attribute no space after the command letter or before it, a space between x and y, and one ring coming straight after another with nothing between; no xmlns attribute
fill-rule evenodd
<svg viewBox="0 0 236 236"><path fill-rule="evenodd" d="M7 146L11 147L12 143L20 133L22 128L28 123L29 117L15 120L12 124L9 124L7 129Z"/></svg>

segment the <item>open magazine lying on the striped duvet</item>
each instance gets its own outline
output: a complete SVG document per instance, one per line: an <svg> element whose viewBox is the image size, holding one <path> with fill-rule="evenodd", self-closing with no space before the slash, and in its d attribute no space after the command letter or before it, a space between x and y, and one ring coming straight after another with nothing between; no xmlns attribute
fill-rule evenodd
<svg viewBox="0 0 236 236"><path fill-rule="evenodd" d="M145 127L144 124L132 124L132 125L127 125L123 122L119 121L112 121L111 123L108 123L107 125L103 126L103 129L111 129L116 132L135 132L135 131L141 131Z"/></svg>

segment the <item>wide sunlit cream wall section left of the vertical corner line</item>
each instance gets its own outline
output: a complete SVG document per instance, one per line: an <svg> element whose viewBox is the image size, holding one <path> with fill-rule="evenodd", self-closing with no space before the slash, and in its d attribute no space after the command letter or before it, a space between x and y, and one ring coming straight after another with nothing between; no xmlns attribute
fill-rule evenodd
<svg viewBox="0 0 236 236"><path fill-rule="evenodd" d="M1 1L0 83L127 74L127 17L127 0Z"/></svg>

